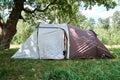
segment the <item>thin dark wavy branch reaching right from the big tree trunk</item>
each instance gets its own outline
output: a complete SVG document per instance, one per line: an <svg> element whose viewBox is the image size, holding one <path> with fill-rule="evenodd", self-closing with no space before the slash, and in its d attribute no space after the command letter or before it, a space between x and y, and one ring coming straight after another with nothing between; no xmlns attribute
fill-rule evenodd
<svg viewBox="0 0 120 80"><path fill-rule="evenodd" d="M25 12L27 12L27 13L34 13L35 11L39 11L39 12L45 12L48 8L49 8L49 6L51 6L51 5L54 5L54 4L57 4L56 3L57 2L57 0L54 0L53 2L51 2L50 4L48 4L47 6L46 6L46 8L44 8L44 9L38 9L38 8L35 8L34 10L30 10L30 9L23 9L23 11L25 11Z"/></svg>

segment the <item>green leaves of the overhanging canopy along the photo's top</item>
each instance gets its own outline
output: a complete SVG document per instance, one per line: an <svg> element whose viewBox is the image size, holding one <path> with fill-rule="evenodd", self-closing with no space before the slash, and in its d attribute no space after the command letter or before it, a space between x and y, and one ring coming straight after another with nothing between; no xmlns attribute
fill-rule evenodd
<svg viewBox="0 0 120 80"><path fill-rule="evenodd" d="M81 4L84 5L85 9L91 9L92 6L96 4L99 6L104 5L107 9L114 8L116 6L116 3L113 0L25 0L24 5L30 5L34 8L43 10L52 2L55 3L53 5L50 5L43 13L35 11L34 13L32 13L32 15L29 14L26 17L31 16L31 18L29 19L33 20L36 16L37 19L42 20L47 17L51 23L56 23L56 18L60 20L59 23L69 23L71 22L71 20L73 20L72 18L74 18L75 20L77 19L76 16ZM12 9L13 3L13 0L1 0L0 9Z"/></svg>

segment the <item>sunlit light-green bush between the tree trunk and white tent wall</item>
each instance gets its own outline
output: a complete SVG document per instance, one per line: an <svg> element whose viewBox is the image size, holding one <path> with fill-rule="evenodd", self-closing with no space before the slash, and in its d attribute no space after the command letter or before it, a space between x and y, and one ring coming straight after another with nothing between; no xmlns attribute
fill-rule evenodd
<svg viewBox="0 0 120 80"><path fill-rule="evenodd" d="M30 26L28 23L20 21L17 25L17 33L13 37L13 44L21 44L23 43L35 30L35 26Z"/></svg>

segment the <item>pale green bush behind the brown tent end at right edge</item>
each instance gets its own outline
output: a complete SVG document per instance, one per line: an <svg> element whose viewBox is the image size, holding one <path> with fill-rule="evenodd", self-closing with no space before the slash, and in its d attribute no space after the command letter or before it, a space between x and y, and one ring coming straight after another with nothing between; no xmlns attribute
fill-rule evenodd
<svg viewBox="0 0 120 80"><path fill-rule="evenodd" d="M101 27L95 27L94 31L97 33L98 38L100 39L100 41L102 41L102 43L107 45L120 44L120 31L117 31L114 28L106 30Z"/></svg>

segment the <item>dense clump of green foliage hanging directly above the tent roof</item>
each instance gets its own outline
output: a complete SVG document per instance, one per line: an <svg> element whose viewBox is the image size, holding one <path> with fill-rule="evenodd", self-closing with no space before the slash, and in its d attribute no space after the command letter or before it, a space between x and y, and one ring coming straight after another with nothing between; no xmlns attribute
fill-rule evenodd
<svg viewBox="0 0 120 80"><path fill-rule="evenodd" d="M50 23L69 23L72 19L76 19L79 5L75 2L74 0L59 1L57 5L50 6L44 13L37 12L32 14L35 15L36 19L50 20ZM26 18L29 18L27 20L35 20L32 17L33 15L26 14Z"/></svg>

